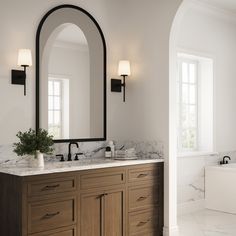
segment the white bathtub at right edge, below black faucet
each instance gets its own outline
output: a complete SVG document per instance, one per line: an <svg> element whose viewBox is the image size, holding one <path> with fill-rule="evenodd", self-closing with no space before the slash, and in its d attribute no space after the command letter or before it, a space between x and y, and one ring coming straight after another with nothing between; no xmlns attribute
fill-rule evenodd
<svg viewBox="0 0 236 236"><path fill-rule="evenodd" d="M236 163L205 168L206 208L236 214Z"/></svg>

